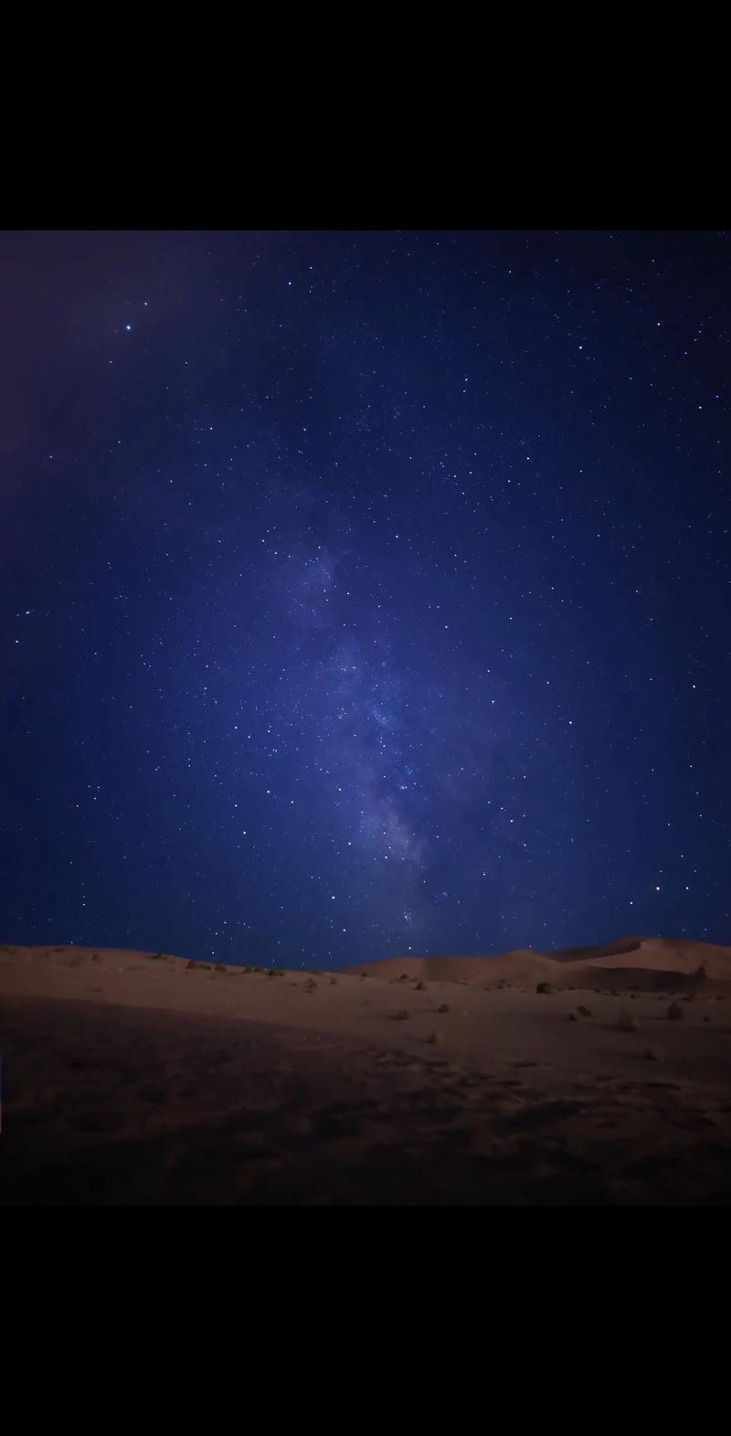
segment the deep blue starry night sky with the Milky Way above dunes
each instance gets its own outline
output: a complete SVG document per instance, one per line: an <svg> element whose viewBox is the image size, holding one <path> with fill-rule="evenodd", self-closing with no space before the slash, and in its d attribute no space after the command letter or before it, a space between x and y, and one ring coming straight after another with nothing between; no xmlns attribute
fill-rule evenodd
<svg viewBox="0 0 731 1436"><path fill-rule="evenodd" d="M730 942L731 238L0 236L0 936Z"/></svg>

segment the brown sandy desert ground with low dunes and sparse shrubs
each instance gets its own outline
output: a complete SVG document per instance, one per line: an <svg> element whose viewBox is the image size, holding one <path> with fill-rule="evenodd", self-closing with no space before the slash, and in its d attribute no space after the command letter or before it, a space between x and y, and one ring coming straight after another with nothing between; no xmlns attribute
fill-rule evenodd
<svg viewBox="0 0 731 1436"><path fill-rule="evenodd" d="M725 1205L731 954L628 941L313 976L0 948L0 1202Z"/></svg>

